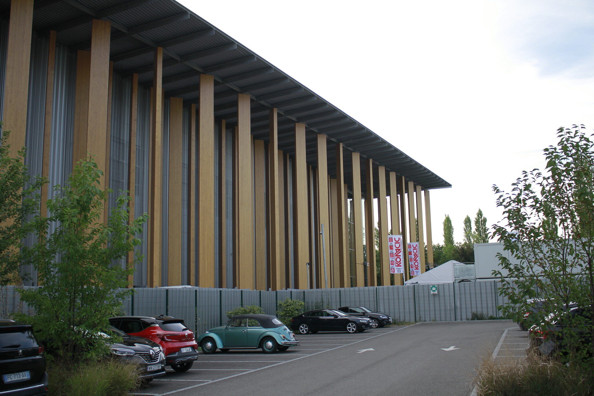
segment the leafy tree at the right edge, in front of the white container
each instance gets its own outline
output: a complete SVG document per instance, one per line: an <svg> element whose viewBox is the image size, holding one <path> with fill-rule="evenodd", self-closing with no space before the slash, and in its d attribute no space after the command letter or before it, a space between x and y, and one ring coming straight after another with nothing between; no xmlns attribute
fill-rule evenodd
<svg viewBox="0 0 594 396"><path fill-rule="evenodd" d="M543 172L523 172L510 192L493 187L504 213L502 223L493 227L493 235L513 256L510 260L499 254L502 270L493 274L501 277L500 294L509 300L500 307L505 314L519 319L530 308L526 299L545 299L542 311L531 313L527 325L538 325L550 338L563 338L559 352L564 359L591 368L594 142L583 126L576 125L558 129L558 138L557 145L544 150L547 162ZM568 315L564 306L569 303L576 303L589 315ZM557 319L566 326L548 326ZM589 334L589 343L582 344L584 333Z"/></svg>

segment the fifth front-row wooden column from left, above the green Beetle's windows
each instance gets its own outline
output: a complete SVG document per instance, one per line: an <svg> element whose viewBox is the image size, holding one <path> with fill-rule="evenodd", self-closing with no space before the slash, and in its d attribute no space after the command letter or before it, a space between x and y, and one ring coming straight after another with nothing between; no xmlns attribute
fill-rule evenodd
<svg viewBox="0 0 594 396"><path fill-rule="evenodd" d="M254 207L252 202L252 144L250 97L237 96L238 129L238 278L239 289L254 289Z"/></svg>

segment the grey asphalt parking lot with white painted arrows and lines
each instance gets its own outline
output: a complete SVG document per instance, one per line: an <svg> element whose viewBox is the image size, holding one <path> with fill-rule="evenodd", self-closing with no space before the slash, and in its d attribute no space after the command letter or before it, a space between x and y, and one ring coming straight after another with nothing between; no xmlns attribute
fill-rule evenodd
<svg viewBox="0 0 594 396"><path fill-rule="evenodd" d="M509 349L505 354L510 357L520 355L523 346L516 352L510 348L515 346L512 336L522 336L512 326L511 321L430 322L355 334L297 335L301 345L285 352L200 354L188 372L168 370L133 394L467 396L481 357L497 347Z"/></svg>

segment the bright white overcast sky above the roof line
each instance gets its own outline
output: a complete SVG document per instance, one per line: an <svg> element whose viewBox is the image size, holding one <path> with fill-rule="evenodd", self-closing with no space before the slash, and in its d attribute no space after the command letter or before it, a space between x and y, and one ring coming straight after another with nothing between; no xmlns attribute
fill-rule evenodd
<svg viewBox="0 0 594 396"><path fill-rule="evenodd" d="M501 220L491 186L542 169L555 129L594 128L591 1L179 1L450 182L434 243L445 214L457 241Z"/></svg>

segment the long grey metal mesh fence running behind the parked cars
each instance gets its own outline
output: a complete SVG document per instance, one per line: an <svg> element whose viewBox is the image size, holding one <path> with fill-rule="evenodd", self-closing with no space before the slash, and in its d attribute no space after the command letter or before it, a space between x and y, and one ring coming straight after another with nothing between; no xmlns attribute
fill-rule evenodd
<svg viewBox="0 0 594 396"><path fill-rule="evenodd" d="M124 315L169 315L185 320L194 331L223 325L226 312L256 305L276 315L277 303L286 298L301 300L305 310L365 306L390 315L396 322L463 321L497 318L498 305L507 303L498 294L498 281L431 285L349 287L309 290L238 290L202 287L137 288L122 301ZM0 288L0 318L31 310L20 301L18 288Z"/></svg>

